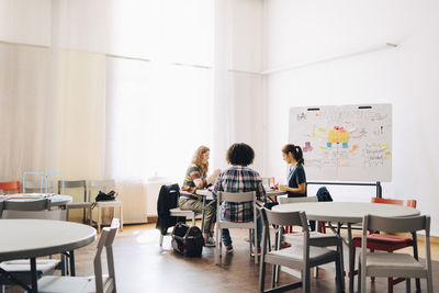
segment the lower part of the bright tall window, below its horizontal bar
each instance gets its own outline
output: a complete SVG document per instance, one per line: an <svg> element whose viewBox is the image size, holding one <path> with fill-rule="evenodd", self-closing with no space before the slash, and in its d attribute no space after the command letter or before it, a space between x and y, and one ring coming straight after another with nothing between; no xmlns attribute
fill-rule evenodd
<svg viewBox="0 0 439 293"><path fill-rule="evenodd" d="M113 58L108 65L108 176L181 181L195 148L211 144L211 70Z"/></svg>

